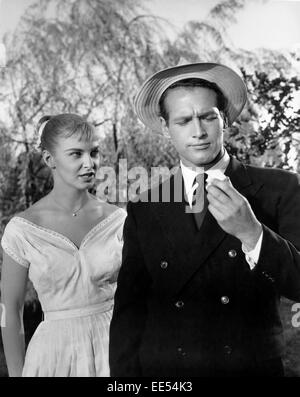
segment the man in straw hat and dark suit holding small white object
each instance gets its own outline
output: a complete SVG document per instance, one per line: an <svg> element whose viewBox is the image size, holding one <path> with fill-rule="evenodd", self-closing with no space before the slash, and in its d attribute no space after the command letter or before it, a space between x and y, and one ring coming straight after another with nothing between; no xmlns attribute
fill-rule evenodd
<svg viewBox="0 0 300 397"><path fill-rule="evenodd" d="M136 97L138 117L172 139L181 167L158 202L151 191L128 203L112 376L283 375L278 304L300 300L299 179L225 151L223 129L246 98L242 79L212 63L160 71Z"/></svg>

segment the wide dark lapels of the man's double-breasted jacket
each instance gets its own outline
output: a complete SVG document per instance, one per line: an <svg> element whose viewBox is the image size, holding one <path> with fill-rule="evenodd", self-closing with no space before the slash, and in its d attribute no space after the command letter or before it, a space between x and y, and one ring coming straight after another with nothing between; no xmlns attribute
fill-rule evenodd
<svg viewBox="0 0 300 397"><path fill-rule="evenodd" d="M230 159L225 175L245 197L254 195L259 188L253 185L245 166L234 158ZM176 199L174 200L176 194L178 199L176 180L179 182L180 179L181 199L176 202ZM223 231L209 211L206 213L201 229L196 232L193 215L185 212L187 204L184 199L181 171L171 178L170 186L170 201L155 203L152 208L164 230L172 263L174 263L172 276L168 278L166 286L168 293L174 294L188 282L226 237L233 237Z"/></svg>

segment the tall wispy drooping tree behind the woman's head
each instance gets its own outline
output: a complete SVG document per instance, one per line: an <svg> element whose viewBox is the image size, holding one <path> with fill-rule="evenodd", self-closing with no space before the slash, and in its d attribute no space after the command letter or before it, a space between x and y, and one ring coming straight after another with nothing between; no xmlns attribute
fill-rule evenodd
<svg viewBox="0 0 300 397"><path fill-rule="evenodd" d="M54 18L47 17L50 8ZM163 62L153 43L161 40L161 30L140 8L134 0L41 1L7 38L6 92L0 96L7 107L3 135L17 153L25 151L29 168L36 171L36 156L29 154L36 121L45 113L62 112L80 113L102 135L111 135L110 150L118 163L134 87L144 79L146 67ZM26 197L25 207L38 198Z"/></svg>

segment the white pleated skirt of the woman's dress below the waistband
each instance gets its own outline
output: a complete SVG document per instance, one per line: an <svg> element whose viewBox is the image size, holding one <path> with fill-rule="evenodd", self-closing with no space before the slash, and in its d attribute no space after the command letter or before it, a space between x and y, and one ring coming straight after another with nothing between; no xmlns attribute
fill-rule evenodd
<svg viewBox="0 0 300 397"><path fill-rule="evenodd" d="M107 377L112 310L44 320L29 342L24 377Z"/></svg>

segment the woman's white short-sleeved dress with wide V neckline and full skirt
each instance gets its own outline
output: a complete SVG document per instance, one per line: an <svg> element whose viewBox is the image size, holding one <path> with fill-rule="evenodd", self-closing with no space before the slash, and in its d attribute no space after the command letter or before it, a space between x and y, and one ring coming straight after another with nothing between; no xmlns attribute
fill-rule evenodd
<svg viewBox="0 0 300 397"><path fill-rule="evenodd" d="M93 227L79 248L67 237L15 216L2 247L28 268L43 312L22 376L109 376L108 336L121 264L126 211Z"/></svg>

